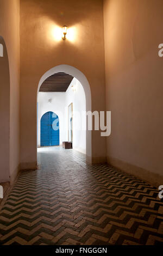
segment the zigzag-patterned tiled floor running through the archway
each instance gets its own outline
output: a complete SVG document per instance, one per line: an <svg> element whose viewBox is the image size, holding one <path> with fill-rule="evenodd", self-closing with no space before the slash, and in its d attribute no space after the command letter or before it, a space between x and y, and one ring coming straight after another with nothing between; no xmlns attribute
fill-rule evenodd
<svg viewBox="0 0 163 256"><path fill-rule="evenodd" d="M41 148L38 159L3 206L0 245L163 245L155 187L74 150Z"/></svg>

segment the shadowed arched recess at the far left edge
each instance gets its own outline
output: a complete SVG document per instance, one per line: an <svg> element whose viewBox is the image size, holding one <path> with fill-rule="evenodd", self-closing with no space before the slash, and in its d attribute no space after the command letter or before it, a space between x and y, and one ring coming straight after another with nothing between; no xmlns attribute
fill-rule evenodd
<svg viewBox="0 0 163 256"><path fill-rule="evenodd" d="M10 180L9 135L10 135L10 72L7 47L0 35L0 182ZM3 54L2 54L3 51Z"/></svg>

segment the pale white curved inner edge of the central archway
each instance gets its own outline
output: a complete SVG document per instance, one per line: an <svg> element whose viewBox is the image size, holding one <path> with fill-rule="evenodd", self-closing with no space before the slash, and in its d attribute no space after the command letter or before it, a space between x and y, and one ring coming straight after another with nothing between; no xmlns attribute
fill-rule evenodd
<svg viewBox="0 0 163 256"><path fill-rule="evenodd" d="M75 78L82 84L84 92L85 92L85 98L86 98L86 112L92 110L92 102L91 102L91 89L90 84L87 81L87 78L85 75L78 69L74 68L70 65L59 65L55 66L54 68L48 70L40 79L39 86L37 89L37 97L38 93L41 87L41 84L43 81L46 80L49 76L58 73L58 72L65 72ZM91 162L92 160L92 132L89 130L86 130L86 159L88 162Z"/></svg>

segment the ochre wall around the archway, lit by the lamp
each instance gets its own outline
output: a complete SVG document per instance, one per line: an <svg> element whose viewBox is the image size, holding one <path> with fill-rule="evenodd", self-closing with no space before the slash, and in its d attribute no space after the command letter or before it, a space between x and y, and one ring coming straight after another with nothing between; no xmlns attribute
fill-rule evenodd
<svg viewBox="0 0 163 256"><path fill-rule="evenodd" d="M103 1L22 0L21 168L36 167L36 96L39 80L54 66L67 64L90 83L92 110L105 110ZM55 41L55 26L76 27L76 40ZM105 137L92 132L93 162L105 161Z"/></svg>

